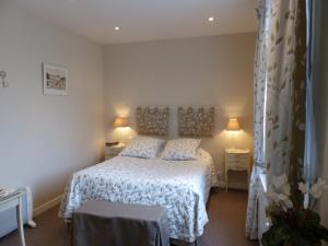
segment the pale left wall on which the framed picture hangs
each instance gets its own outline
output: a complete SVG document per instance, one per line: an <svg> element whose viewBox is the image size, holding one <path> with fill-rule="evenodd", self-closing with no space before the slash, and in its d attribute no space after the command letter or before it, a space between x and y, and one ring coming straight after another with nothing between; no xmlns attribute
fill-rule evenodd
<svg viewBox="0 0 328 246"><path fill-rule="evenodd" d="M0 187L31 186L38 206L103 156L103 48L12 0L0 1ZM42 62L68 68L68 96L43 95Z"/></svg>

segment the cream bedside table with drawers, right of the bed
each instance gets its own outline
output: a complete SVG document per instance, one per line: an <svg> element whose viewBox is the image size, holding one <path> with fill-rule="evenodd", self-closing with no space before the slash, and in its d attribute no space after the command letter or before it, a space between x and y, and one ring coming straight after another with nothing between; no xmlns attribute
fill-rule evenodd
<svg viewBox="0 0 328 246"><path fill-rule="evenodd" d="M225 149L225 190L227 191L227 171L247 171L247 184L250 176L250 153L247 149Z"/></svg>

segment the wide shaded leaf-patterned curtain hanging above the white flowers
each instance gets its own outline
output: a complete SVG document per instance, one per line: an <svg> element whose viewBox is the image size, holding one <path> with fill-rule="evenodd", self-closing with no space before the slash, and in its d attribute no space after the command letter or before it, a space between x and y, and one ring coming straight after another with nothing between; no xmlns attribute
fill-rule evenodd
<svg viewBox="0 0 328 246"><path fill-rule="evenodd" d="M270 183L272 175L285 173L290 180L300 180L305 148L306 0L273 0L270 14L265 113L267 179ZM294 201L301 199L300 194L292 196Z"/></svg>

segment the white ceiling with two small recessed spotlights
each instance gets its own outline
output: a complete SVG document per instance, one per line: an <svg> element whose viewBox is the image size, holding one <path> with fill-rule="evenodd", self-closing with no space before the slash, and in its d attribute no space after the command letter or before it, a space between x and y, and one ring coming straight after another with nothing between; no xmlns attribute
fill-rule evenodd
<svg viewBox="0 0 328 246"><path fill-rule="evenodd" d="M17 0L30 12L101 44L256 31L257 0ZM214 22L208 22L214 16ZM120 31L114 27L119 26Z"/></svg>

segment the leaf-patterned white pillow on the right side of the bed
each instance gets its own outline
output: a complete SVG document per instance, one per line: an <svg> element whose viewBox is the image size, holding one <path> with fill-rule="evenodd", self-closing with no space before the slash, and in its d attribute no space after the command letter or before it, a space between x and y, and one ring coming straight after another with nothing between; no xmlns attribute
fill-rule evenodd
<svg viewBox="0 0 328 246"><path fill-rule="evenodd" d="M167 141L162 159L167 161L197 160L200 139L175 139Z"/></svg>

